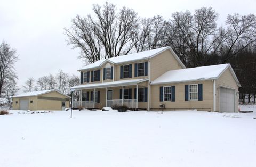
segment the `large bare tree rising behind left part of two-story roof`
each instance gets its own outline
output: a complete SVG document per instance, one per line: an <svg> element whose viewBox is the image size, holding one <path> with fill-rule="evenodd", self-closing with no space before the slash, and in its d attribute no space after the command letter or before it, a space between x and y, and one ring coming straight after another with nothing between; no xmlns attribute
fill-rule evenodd
<svg viewBox="0 0 256 167"><path fill-rule="evenodd" d="M93 63L129 53L133 48L131 34L137 26L137 13L126 7L117 12L116 6L107 2L103 7L93 5L93 12L96 19L77 15L72 26L64 29L68 45L81 49L79 58Z"/></svg>

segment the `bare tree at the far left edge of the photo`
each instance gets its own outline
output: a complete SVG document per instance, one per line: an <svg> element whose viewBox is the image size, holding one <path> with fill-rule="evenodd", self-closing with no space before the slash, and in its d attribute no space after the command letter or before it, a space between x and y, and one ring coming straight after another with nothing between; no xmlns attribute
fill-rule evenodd
<svg viewBox="0 0 256 167"><path fill-rule="evenodd" d="M3 86L8 79L16 79L14 72L14 63L17 62L18 56L16 50L12 49L9 44L2 42L0 45L0 96Z"/></svg>

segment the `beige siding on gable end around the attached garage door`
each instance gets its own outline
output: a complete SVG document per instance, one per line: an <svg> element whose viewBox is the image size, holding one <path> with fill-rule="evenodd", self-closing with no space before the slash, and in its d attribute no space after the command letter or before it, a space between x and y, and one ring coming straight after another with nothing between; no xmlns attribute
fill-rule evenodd
<svg viewBox="0 0 256 167"><path fill-rule="evenodd" d="M236 84L236 81L231 74L229 68L226 69L221 76L216 80L216 110L220 110L219 106L219 93L220 93L220 86L226 86L229 88L235 89L236 92L238 92L238 86ZM236 95L236 101L235 101L235 111L238 111L238 105L239 105L239 96Z"/></svg>

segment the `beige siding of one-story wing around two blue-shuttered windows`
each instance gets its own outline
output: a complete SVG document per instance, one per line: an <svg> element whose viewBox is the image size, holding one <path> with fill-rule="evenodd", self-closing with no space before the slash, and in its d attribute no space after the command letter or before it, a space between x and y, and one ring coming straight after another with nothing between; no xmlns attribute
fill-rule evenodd
<svg viewBox="0 0 256 167"><path fill-rule="evenodd" d="M203 84L203 101L185 101L185 85L189 84ZM175 86L175 102L160 102L161 86ZM213 111L213 81L151 85L151 110L160 110L160 104L165 104L166 110Z"/></svg>

